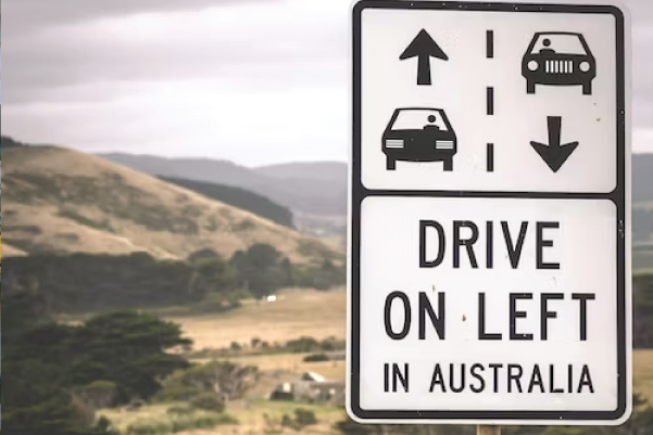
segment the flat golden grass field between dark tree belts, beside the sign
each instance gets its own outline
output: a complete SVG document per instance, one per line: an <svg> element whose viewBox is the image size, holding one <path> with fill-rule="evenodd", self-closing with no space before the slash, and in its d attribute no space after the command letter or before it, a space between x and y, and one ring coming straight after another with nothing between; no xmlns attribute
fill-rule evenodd
<svg viewBox="0 0 653 435"><path fill-rule="evenodd" d="M250 343L253 337L285 343L300 336L344 338L347 293L291 290L277 302L256 302L237 310L192 318L168 318L181 324L194 349L227 347L231 342Z"/></svg>

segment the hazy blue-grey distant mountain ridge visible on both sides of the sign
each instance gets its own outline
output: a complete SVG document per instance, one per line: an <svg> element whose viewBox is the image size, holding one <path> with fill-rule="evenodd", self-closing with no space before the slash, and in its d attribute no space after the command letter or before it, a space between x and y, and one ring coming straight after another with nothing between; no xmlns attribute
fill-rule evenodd
<svg viewBox="0 0 653 435"><path fill-rule="evenodd" d="M347 164L287 163L248 168L208 158L162 158L105 154L147 174L204 180L251 190L292 209L305 233L343 241L347 216ZM653 154L632 155L632 234L635 265L653 268ZM338 217L334 219L334 217Z"/></svg>

